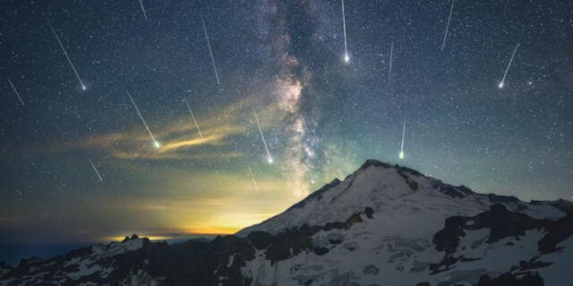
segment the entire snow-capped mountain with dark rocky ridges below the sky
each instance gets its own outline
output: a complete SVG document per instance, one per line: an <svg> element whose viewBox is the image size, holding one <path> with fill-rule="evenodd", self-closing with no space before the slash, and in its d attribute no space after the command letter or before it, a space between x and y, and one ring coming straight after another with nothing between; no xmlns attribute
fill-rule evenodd
<svg viewBox="0 0 573 286"><path fill-rule="evenodd" d="M0 285L573 285L573 204L478 194L369 160L235 235L133 236L0 265Z"/></svg>

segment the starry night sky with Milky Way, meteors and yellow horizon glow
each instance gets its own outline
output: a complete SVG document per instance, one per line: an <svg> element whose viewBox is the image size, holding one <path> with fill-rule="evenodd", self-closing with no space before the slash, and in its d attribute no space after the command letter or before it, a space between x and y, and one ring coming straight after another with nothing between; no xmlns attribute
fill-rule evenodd
<svg viewBox="0 0 573 286"><path fill-rule="evenodd" d="M347 63L341 1L0 5L0 243L233 233L368 158L573 196L571 1L346 0Z"/></svg>

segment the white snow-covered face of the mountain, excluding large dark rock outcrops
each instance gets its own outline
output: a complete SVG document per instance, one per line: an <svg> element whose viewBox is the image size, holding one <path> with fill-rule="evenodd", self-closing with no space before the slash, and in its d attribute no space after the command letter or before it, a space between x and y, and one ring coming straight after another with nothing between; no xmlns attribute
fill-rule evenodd
<svg viewBox="0 0 573 286"><path fill-rule="evenodd" d="M309 251L274 263L260 251L243 271L254 279L254 284L262 285L381 285L382 281L386 285L476 285L483 275L498 277L520 261L541 255L537 243L546 232L543 228L494 243L485 242L492 230L483 228L466 231L449 256L464 259L443 265L443 269L438 267L437 273L431 271L431 266L440 265L444 257L432 240L445 220L455 215L470 217L488 212L494 204L549 222L566 215L555 202L531 204L517 198L477 194L407 168L368 161L345 181L333 181L320 193L237 235L244 237L252 231L280 233L304 224L344 222L366 207L373 209L372 218L363 215L363 222L349 229L312 235L312 244L327 248L327 253ZM571 244L573 240L569 238L564 243ZM573 283L573 273L562 271L573 261L573 248L565 249L563 255L547 256L547 261L556 263L540 272L548 276L546 285Z"/></svg>

